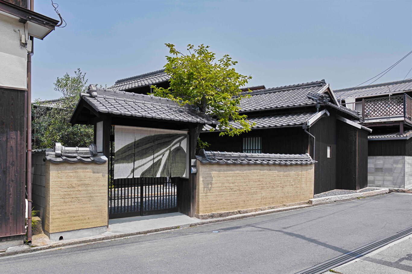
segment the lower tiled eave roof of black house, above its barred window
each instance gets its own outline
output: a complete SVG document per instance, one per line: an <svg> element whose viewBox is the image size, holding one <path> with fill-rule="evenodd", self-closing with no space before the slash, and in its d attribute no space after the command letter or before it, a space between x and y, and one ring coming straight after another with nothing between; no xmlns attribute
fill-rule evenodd
<svg viewBox="0 0 412 274"><path fill-rule="evenodd" d="M304 122L308 121L312 116L316 114L313 112L300 112L300 113L288 113L288 114L277 114L268 116L257 116L249 117L248 121L256 123L252 129L258 128L281 128L286 126L296 126L303 125ZM240 128L236 123L232 123L235 128ZM205 125L203 130L210 130L212 127Z"/></svg>

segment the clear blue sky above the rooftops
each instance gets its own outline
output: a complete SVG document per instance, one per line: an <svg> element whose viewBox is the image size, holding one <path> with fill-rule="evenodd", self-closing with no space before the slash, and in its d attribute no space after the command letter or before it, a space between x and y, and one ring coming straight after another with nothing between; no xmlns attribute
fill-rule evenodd
<svg viewBox="0 0 412 274"><path fill-rule="evenodd" d="M412 50L412 1L69 1L67 22L33 56L33 98L54 99L56 77L77 67L90 84L159 70L164 43L207 44L229 54L248 86L325 79L346 88L382 72ZM58 19L51 1L35 11ZM402 80L412 55L377 82ZM407 78L412 77L410 72Z"/></svg>

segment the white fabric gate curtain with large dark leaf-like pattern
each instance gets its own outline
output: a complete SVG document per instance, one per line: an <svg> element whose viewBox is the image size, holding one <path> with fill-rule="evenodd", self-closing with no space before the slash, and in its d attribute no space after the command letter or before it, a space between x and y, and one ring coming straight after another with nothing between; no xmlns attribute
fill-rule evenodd
<svg viewBox="0 0 412 274"><path fill-rule="evenodd" d="M185 176L187 136L180 130L116 125L114 179Z"/></svg>

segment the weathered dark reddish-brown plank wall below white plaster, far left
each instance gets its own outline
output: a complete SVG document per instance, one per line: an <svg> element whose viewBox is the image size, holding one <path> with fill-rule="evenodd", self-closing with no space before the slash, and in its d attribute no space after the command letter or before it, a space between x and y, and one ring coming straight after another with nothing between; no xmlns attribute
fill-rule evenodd
<svg viewBox="0 0 412 274"><path fill-rule="evenodd" d="M0 240L20 239L26 207L25 92L0 88L0 98Z"/></svg>

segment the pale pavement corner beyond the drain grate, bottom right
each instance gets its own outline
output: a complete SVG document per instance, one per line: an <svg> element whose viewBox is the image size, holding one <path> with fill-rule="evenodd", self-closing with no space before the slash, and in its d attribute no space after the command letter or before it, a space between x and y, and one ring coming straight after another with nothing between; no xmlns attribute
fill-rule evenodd
<svg viewBox="0 0 412 274"><path fill-rule="evenodd" d="M412 235L332 269L342 274L407 274L412 272ZM326 272L332 273L332 272Z"/></svg>

